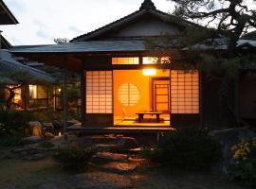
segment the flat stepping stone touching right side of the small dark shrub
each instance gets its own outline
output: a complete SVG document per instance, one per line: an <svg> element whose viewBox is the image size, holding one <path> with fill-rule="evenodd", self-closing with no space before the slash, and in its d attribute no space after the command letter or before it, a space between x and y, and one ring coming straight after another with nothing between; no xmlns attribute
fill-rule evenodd
<svg viewBox="0 0 256 189"><path fill-rule="evenodd" d="M111 152L99 152L92 157L92 163L110 163L119 162L127 163L128 156L125 154L111 153Z"/></svg>

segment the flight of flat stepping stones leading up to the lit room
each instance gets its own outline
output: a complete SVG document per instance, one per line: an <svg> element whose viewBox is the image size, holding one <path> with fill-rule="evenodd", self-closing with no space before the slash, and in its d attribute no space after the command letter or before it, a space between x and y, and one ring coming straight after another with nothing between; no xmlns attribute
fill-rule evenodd
<svg viewBox="0 0 256 189"><path fill-rule="evenodd" d="M101 144L95 145L96 153L92 165L101 171L116 174L129 174L145 162L138 159L139 145L131 137L96 137ZM137 150L135 150L137 149Z"/></svg>

